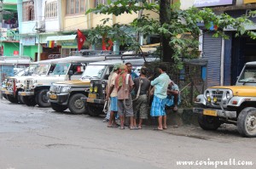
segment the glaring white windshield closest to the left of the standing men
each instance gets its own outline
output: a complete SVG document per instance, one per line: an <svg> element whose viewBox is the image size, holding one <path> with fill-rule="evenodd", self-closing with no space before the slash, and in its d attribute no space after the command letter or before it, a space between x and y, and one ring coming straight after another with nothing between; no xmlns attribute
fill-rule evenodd
<svg viewBox="0 0 256 169"><path fill-rule="evenodd" d="M88 65L81 79L89 79L91 77L101 78L106 65Z"/></svg>

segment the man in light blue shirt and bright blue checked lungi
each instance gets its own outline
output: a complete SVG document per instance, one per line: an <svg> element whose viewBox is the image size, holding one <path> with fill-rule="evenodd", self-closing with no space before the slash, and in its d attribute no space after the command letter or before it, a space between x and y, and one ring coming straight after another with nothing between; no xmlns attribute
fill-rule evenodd
<svg viewBox="0 0 256 169"><path fill-rule="evenodd" d="M166 121L166 97L167 97L167 88L171 82L170 77L166 74L166 65L160 64L159 67L160 76L156 77L154 81L151 82L151 85L154 86L154 99L151 105L150 115L158 117L158 130L166 129L166 124L163 125Z"/></svg>

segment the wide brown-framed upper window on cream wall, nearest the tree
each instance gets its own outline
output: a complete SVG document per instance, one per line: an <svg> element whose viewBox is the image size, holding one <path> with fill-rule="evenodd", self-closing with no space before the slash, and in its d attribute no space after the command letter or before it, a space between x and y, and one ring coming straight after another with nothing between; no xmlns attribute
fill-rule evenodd
<svg viewBox="0 0 256 169"><path fill-rule="evenodd" d="M85 12L85 0L66 0L66 14L81 14Z"/></svg>

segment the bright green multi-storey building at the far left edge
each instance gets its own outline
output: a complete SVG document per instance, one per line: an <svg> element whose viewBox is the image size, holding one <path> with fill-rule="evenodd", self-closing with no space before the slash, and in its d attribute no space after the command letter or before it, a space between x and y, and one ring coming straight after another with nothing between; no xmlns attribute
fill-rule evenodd
<svg viewBox="0 0 256 169"><path fill-rule="evenodd" d="M0 55L19 52L18 14L16 0L0 1Z"/></svg>

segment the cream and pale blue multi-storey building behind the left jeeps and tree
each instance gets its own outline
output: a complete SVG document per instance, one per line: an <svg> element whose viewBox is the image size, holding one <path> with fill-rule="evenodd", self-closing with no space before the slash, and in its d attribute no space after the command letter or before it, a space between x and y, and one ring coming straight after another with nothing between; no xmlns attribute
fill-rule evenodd
<svg viewBox="0 0 256 169"><path fill-rule="evenodd" d="M49 54L54 53L67 55L71 50L76 50L78 29L86 36L92 27L101 25L101 20L106 17L112 19L109 25L128 24L138 17L138 14L120 16L85 14L89 8L95 8L100 3L107 4L107 0L17 0L17 2L20 54L30 55L35 60L46 59ZM186 5L183 8L186 8ZM150 12L144 11L144 13ZM154 13L151 13L151 16L158 17ZM54 47L51 45L49 48L47 44L51 41L54 41ZM96 47L94 44L84 42L84 48ZM118 42L114 43L113 49L119 51Z"/></svg>

